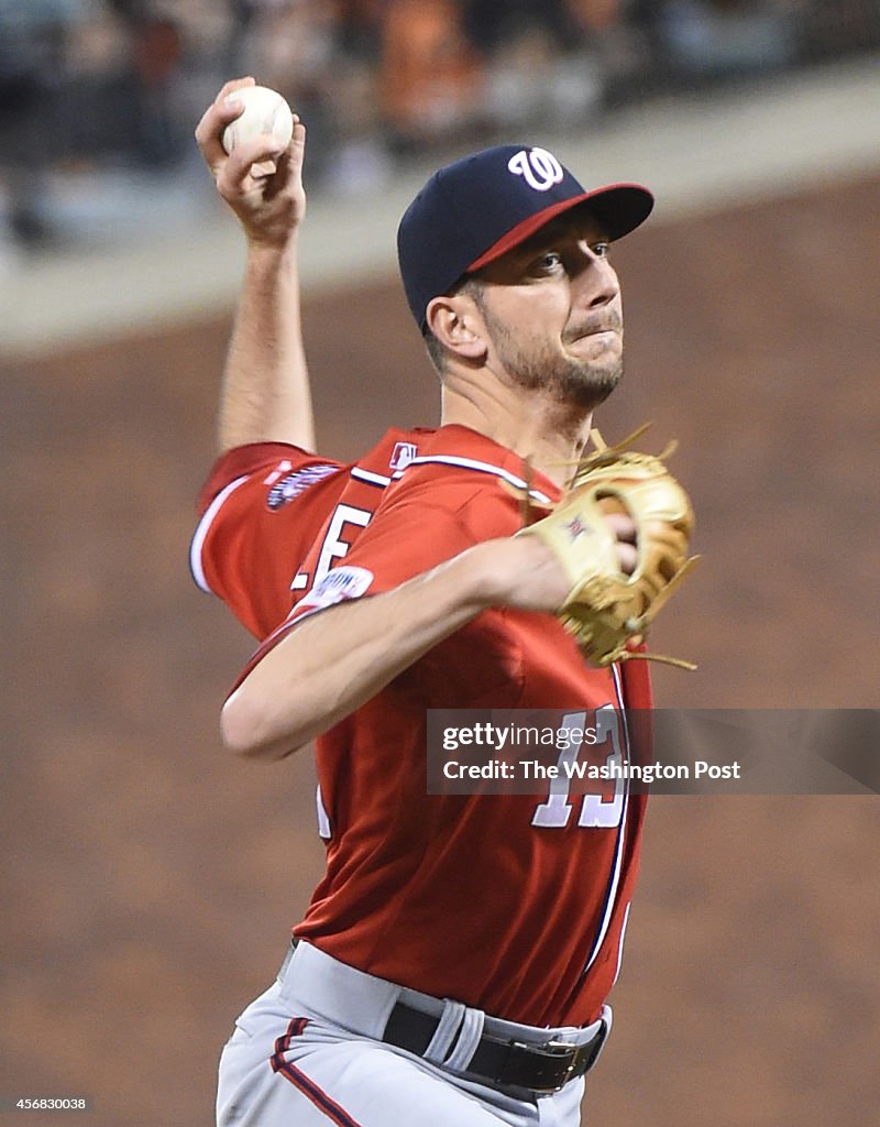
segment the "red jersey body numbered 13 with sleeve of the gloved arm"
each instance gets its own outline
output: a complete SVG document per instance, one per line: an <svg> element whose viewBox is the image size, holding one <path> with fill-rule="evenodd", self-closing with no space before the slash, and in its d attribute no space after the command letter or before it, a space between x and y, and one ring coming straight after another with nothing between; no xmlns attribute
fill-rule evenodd
<svg viewBox="0 0 880 1127"><path fill-rule="evenodd" d="M459 426L405 441L415 456L408 449L375 490L344 554L325 514L296 568L296 605L256 660L304 615L389 591L521 526L517 500L499 485L523 483L518 455ZM541 476L532 488L558 497ZM328 544L337 544L329 569ZM649 704L641 664L625 676L587 666L552 615L478 615L317 740L327 871L295 934L512 1021L595 1020L619 969L645 799L621 789L598 810L595 796L429 796L426 710L604 710L625 738L623 707Z"/></svg>

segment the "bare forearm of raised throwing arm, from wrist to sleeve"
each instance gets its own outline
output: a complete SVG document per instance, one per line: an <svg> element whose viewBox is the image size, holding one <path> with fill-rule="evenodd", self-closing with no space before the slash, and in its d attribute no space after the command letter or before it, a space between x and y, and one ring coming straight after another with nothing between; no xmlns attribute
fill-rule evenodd
<svg viewBox="0 0 880 1127"><path fill-rule="evenodd" d="M284 248L248 247L221 392L221 452L273 441L314 450L296 241L293 232Z"/></svg>

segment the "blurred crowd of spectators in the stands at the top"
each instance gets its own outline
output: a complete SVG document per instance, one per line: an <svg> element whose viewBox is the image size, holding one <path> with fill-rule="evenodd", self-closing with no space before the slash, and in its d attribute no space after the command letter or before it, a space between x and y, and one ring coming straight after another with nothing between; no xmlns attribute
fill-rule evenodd
<svg viewBox="0 0 880 1127"><path fill-rule="evenodd" d="M454 141L584 128L634 101L880 46L880 0L0 0L0 229L53 238L53 178L172 176L220 85L308 123L308 175L381 185Z"/></svg>

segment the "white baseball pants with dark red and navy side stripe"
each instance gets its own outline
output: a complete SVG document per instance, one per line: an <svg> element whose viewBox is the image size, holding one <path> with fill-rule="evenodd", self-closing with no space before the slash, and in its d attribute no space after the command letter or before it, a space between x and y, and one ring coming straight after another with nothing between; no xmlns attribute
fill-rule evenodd
<svg viewBox="0 0 880 1127"><path fill-rule="evenodd" d="M435 999L300 943L235 1021L220 1061L217 1127L579 1127L584 1077L553 1094L515 1099L383 1044L398 1001L444 1012ZM586 1044L597 1029L535 1029L473 1010L455 1019L459 1042L469 1028L477 1040L485 1031L534 1045ZM611 1022L607 1008L604 1020ZM466 1054L455 1040L443 1059Z"/></svg>

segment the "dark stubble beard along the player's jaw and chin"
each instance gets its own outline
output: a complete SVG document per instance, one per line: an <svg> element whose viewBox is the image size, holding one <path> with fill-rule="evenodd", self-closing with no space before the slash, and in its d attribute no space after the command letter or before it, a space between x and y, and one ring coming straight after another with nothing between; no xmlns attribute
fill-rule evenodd
<svg viewBox="0 0 880 1127"><path fill-rule="evenodd" d="M483 317L504 370L524 390L543 391L553 401L586 412L604 403L623 378L622 355L604 363L586 356L581 360L554 350L541 337L514 339L509 328L486 309ZM616 314L605 317L603 326L622 330ZM589 331L589 326L569 332L570 343L585 331Z"/></svg>

